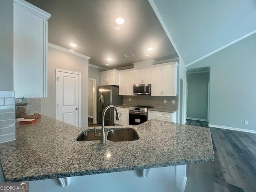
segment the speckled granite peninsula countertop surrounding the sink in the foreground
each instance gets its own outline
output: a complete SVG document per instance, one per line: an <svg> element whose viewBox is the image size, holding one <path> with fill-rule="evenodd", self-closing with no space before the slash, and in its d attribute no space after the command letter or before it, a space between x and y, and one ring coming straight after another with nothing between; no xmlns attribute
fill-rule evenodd
<svg viewBox="0 0 256 192"><path fill-rule="evenodd" d="M127 126L112 126L108 129ZM77 128L42 115L16 125L16 140L0 144L6 182L20 182L214 161L209 128L150 120L135 141L79 142ZM98 127L100 128L100 127Z"/></svg>

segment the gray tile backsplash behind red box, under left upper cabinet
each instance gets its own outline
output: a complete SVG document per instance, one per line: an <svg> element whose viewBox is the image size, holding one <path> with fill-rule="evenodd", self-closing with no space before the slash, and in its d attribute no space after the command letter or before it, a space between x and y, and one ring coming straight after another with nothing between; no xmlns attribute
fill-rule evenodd
<svg viewBox="0 0 256 192"><path fill-rule="evenodd" d="M15 102L20 102L20 98L16 98ZM23 102L28 102L26 105L26 113L28 115L41 113L41 98L24 98Z"/></svg>

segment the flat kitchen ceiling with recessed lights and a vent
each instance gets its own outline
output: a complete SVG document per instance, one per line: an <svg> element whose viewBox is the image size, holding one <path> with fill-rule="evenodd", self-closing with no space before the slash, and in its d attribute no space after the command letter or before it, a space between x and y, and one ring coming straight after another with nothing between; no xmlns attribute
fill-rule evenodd
<svg viewBox="0 0 256 192"><path fill-rule="evenodd" d="M148 0L26 1L52 14L48 42L67 49L74 42L73 49L90 56L90 64L113 69L178 57ZM124 24L116 24L118 17L124 18ZM134 56L123 56L129 53Z"/></svg>

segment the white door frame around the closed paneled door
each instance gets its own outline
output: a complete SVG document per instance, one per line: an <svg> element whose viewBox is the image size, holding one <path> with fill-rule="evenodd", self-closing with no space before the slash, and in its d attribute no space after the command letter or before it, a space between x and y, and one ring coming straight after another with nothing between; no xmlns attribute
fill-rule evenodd
<svg viewBox="0 0 256 192"><path fill-rule="evenodd" d="M55 119L58 120L58 72L64 72L64 73L71 73L78 75L78 127L81 127L81 73L80 72L74 72L74 71L68 71L64 69L55 69Z"/></svg>

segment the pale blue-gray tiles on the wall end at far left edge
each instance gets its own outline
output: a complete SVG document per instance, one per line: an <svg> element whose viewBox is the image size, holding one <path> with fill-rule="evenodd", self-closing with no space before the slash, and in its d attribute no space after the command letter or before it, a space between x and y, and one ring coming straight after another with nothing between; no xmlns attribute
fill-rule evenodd
<svg viewBox="0 0 256 192"><path fill-rule="evenodd" d="M0 143L15 140L14 91L0 91Z"/></svg>

